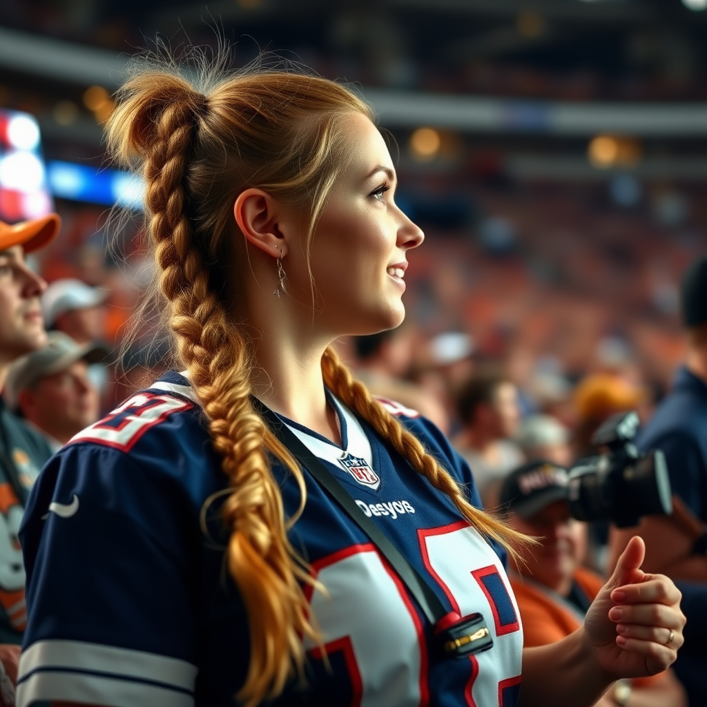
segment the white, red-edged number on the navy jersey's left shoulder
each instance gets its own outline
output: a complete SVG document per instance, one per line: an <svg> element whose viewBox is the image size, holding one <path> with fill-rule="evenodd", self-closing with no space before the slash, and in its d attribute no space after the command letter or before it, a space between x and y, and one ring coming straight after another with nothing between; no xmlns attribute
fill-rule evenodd
<svg viewBox="0 0 707 707"><path fill-rule="evenodd" d="M97 442L98 444L129 452L150 429L174 412L188 410L194 405L171 395L139 393L100 420L69 440Z"/></svg>

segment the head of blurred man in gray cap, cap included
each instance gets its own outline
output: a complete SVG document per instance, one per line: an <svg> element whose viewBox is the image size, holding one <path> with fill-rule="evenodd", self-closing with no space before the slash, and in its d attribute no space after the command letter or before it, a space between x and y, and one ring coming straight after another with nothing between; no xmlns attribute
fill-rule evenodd
<svg viewBox="0 0 707 707"><path fill-rule="evenodd" d="M77 432L98 420L98 389L88 378L88 364L102 361L100 344L76 344L62 332L49 332L47 344L8 368L5 396L59 450Z"/></svg>

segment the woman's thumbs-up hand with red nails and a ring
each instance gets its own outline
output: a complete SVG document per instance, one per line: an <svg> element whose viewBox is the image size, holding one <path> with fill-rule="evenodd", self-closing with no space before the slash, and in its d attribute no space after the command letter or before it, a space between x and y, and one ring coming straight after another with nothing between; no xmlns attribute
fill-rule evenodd
<svg viewBox="0 0 707 707"><path fill-rule="evenodd" d="M585 641L612 679L662 672L684 640L682 595L669 578L640 569L644 556L643 539L632 537L585 618Z"/></svg>

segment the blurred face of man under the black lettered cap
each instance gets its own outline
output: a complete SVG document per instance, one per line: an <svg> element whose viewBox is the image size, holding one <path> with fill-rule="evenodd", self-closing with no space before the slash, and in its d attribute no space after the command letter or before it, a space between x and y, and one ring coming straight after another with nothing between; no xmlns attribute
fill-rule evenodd
<svg viewBox="0 0 707 707"><path fill-rule="evenodd" d="M572 575L585 555L587 528L571 517L567 501L555 501L527 520L511 513L510 525L540 541L540 547L525 556L525 566L518 564L518 572L561 595L568 594Z"/></svg>

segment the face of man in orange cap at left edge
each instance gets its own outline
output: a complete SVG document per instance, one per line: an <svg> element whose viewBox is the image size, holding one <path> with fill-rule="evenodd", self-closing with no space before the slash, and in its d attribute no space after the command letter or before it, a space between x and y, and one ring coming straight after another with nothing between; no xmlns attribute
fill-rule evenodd
<svg viewBox="0 0 707 707"><path fill-rule="evenodd" d="M39 297L46 288L20 245L0 251L0 367L45 344Z"/></svg>

